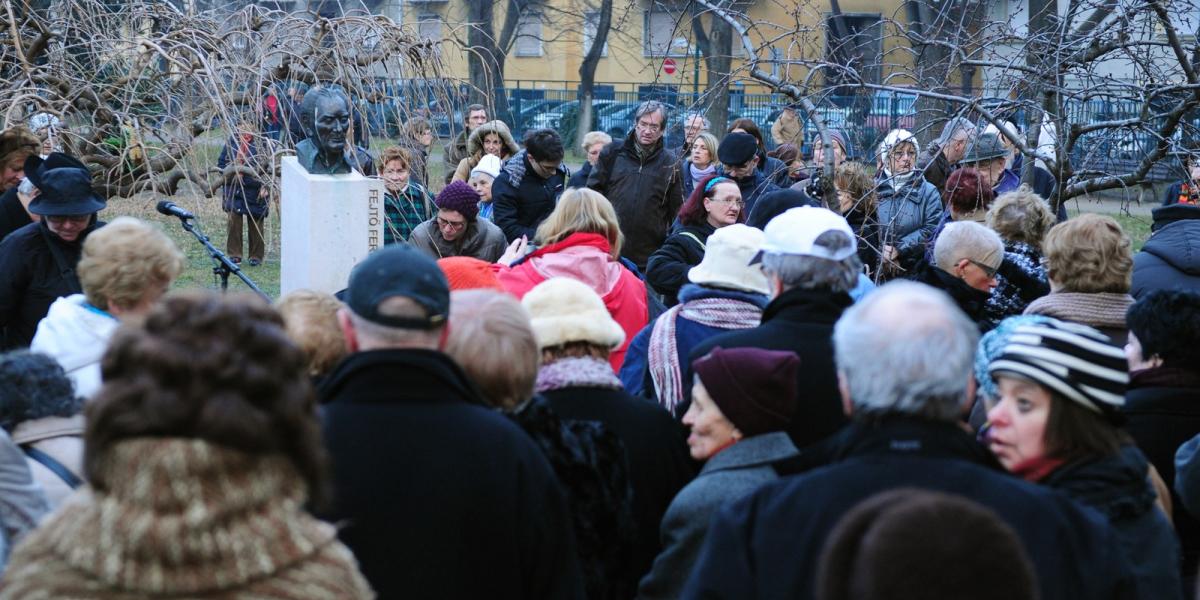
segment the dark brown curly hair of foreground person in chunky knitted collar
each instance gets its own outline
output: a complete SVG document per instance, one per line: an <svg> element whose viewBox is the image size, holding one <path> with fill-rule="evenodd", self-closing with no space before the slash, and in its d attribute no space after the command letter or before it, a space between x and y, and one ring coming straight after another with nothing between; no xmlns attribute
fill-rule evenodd
<svg viewBox="0 0 1200 600"><path fill-rule="evenodd" d="M107 452L142 437L199 438L282 455L328 500L326 462L305 355L257 296L169 295L120 328L101 361L104 386L86 409L84 470L108 490Z"/></svg>

